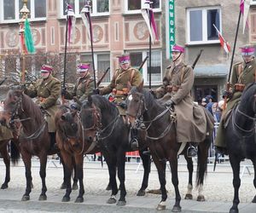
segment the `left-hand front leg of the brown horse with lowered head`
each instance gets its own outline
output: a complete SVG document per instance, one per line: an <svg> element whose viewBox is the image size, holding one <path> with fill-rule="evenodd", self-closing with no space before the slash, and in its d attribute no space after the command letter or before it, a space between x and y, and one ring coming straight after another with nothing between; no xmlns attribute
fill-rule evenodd
<svg viewBox="0 0 256 213"><path fill-rule="evenodd" d="M71 174L72 174L72 169L73 169L73 164L72 164L72 156L69 153L66 153L65 151L61 150L61 156L63 159L63 166L65 167L64 169L64 182L66 183L66 193L62 198L62 202L68 202L70 201L70 193L72 191L71 188Z"/></svg>

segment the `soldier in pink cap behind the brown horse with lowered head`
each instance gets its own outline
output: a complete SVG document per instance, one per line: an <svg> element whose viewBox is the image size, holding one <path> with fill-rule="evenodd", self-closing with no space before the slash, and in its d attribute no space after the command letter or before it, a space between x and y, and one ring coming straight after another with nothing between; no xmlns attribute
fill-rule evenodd
<svg viewBox="0 0 256 213"><path fill-rule="evenodd" d="M76 97L80 102L87 99L88 95L92 94L93 91L93 78L90 78L90 64L80 64L78 66L77 72L79 74L79 78L75 83L73 91L69 93L66 88L61 89L61 95L67 100L72 100ZM79 104L73 103L71 105L73 109L79 110Z"/></svg>

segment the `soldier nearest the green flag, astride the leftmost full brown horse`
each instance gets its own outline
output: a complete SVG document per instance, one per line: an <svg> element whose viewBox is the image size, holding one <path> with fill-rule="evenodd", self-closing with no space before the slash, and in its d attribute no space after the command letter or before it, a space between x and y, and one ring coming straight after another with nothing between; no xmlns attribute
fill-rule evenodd
<svg viewBox="0 0 256 213"><path fill-rule="evenodd" d="M52 76L53 67L43 65L41 67L41 79L24 93L31 98L37 98L36 104L45 112L45 120L48 124L48 130L51 137L51 145L55 142L55 112L58 110L60 102L58 98L61 94L61 82Z"/></svg>

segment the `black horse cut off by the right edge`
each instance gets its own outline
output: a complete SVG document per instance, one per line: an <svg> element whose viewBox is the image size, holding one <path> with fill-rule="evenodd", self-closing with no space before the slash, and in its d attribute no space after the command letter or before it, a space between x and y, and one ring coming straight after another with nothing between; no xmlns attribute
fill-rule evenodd
<svg viewBox="0 0 256 213"><path fill-rule="evenodd" d="M241 101L234 107L227 118L225 141L230 156L230 164L233 170L234 199L230 213L238 213L240 179L240 163L244 158L253 162L254 179L256 188L256 83L249 84L242 92ZM256 195L253 203L256 203Z"/></svg>

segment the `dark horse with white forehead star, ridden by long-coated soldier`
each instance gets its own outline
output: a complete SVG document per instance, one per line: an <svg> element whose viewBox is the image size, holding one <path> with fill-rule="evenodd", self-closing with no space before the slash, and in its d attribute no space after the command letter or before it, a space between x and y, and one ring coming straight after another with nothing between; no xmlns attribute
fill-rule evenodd
<svg viewBox="0 0 256 213"><path fill-rule="evenodd" d="M181 196L178 189L178 177L177 177L177 153L181 147L181 143L176 139L176 116L172 108L164 107L154 98L147 89L143 89L143 83L137 87L129 88L130 93L127 97L127 112L128 118L131 124L134 126L143 120L143 124L146 126L147 135L144 142L149 147L154 164L158 170L161 190L161 200L157 206L157 210L166 209L166 161L169 161L172 171L172 184L175 188L175 204L172 211L181 211L180 200ZM212 118L213 122L213 118ZM212 130L209 132L205 141L198 144L198 159L197 159L197 173L196 173L196 187L198 187L198 201L204 201L203 182L204 177L207 174L207 157L208 148L211 144ZM140 144L139 146L145 146ZM186 145L188 147L188 145ZM185 199L192 199L192 174L193 174L193 162L191 158L187 157L183 149L184 157L187 160L187 167L189 170L189 185L188 192Z"/></svg>

